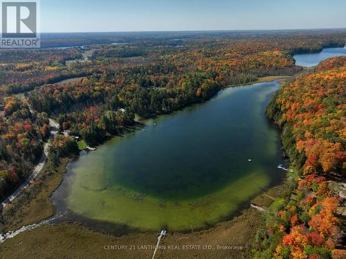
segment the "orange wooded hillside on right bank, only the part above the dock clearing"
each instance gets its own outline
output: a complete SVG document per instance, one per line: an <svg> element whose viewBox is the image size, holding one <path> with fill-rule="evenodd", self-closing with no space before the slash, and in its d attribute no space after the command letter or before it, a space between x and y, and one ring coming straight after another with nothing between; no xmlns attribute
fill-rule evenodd
<svg viewBox="0 0 346 259"><path fill-rule="evenodd" d="M278 123L291 125L305 174L345 172L345 89L346 57L336 57L283 87L276 99Z"/></svg>

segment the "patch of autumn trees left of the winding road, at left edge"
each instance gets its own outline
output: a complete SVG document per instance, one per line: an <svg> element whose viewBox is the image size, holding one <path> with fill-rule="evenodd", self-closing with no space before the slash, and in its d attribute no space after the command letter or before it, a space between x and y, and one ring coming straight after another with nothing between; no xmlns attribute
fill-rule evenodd
<svg viewBox="0 0 346 259"><path fill-rule="evenodd" d="M31 114L18 98L5 98L0 116L0 197L23 181L42 155L42 142L50 134L48 115Z"/></svg>

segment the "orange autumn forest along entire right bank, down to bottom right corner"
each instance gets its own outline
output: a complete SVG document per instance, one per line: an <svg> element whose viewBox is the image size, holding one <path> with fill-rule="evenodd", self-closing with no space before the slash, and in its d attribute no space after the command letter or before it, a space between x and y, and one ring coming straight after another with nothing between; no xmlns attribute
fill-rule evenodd
<svg viewBox="0 0 346 259"><path fill-rule="evenodd" d="M345 177L345 89L346 57L334 57L269 103L266 114L283 128L284 151L300 177L268 229L257 233L256 258L338 258L334 249L345 245L338 240L342 199L329 181Z"/></svg>

